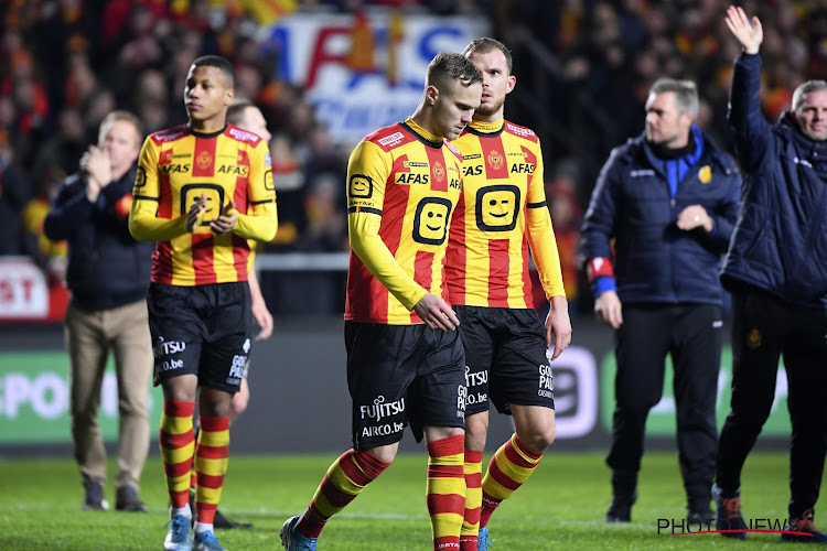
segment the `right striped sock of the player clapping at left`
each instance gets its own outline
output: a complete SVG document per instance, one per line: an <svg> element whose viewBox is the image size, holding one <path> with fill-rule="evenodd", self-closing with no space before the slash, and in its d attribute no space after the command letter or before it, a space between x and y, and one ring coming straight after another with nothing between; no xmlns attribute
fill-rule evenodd
<svg viewBox="0 0 827 551"><path fill-rule="evenodd" d="M195 520L212 525L222 497L224 474L229 463L229 417L201 415L195 449Z"/></svg>

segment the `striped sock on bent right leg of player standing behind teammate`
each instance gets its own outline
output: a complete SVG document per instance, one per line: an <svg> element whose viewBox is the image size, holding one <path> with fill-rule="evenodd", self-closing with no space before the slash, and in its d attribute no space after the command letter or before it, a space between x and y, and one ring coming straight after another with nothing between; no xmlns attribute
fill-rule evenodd
<svg viewBox="0 0 827 551"><path fill-rule="evenodd" d="M516 434L497 450L483 478L481 527L488 525L494 509L531 476L541 458L543 454L527 451Z"/></svg>

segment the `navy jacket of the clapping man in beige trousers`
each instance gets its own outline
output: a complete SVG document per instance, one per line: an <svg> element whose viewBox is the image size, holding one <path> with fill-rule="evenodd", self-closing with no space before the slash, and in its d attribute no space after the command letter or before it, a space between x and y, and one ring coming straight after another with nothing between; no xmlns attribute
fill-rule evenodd
<svg viewBox="0 0 827 551"><path fill-rule="evenodd" d="M68 240L66 283L72 302L85 310L107 310L147 296L155 244L129 234L129 205L136 166L104 187L96 204L86 198L86 175L73 174L57 192L43 229L53 240Z"/></svg>

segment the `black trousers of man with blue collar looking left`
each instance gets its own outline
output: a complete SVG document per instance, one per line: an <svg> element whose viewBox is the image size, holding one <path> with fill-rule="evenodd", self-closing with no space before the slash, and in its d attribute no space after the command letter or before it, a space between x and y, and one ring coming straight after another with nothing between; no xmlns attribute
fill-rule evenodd
<svg viewBox="0 0 827 551"><path fill-rule="evenodd" d="M615 333L612 446L615 494L634 490L649 410L660 401L672 356L680 473L690 508L707 508L715 475L721 309L712 304L624 305Z"/></svg>

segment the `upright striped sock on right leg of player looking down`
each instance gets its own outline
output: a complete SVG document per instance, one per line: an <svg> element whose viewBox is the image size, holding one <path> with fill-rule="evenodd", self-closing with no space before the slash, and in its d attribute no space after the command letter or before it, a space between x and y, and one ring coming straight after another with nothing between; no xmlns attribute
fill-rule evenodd
<svg viewBox="0 0 827 551"><path fill-rule="evenodd" d="M464 434L428 443L426 499L434 550L460 549L465 512L464 447Z"/></svg>

